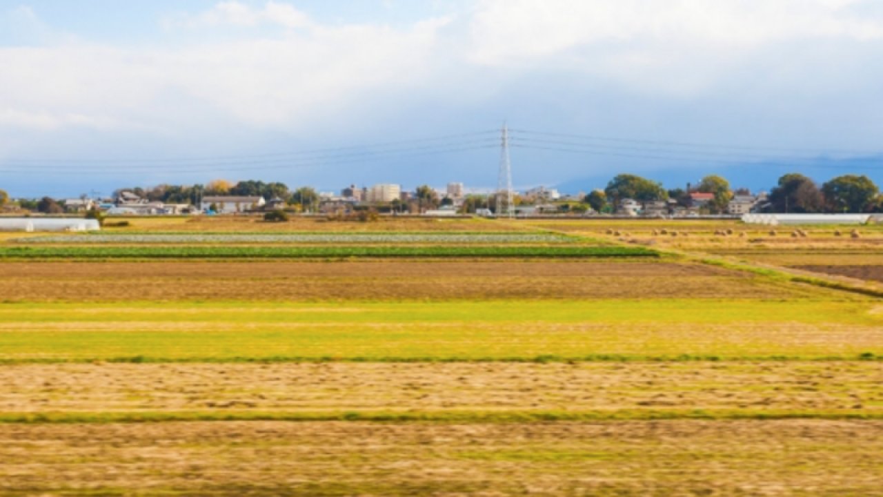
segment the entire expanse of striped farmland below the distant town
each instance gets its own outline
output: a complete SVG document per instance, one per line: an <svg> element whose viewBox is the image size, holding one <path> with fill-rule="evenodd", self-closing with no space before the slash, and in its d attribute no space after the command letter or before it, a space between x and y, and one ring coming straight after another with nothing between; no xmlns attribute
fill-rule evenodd
<svg viewBox="0 0 883 497"><path fill-rule="evenodd" d="M883 231L861 229L4 234L0 493L879 494Z"/></svg>

